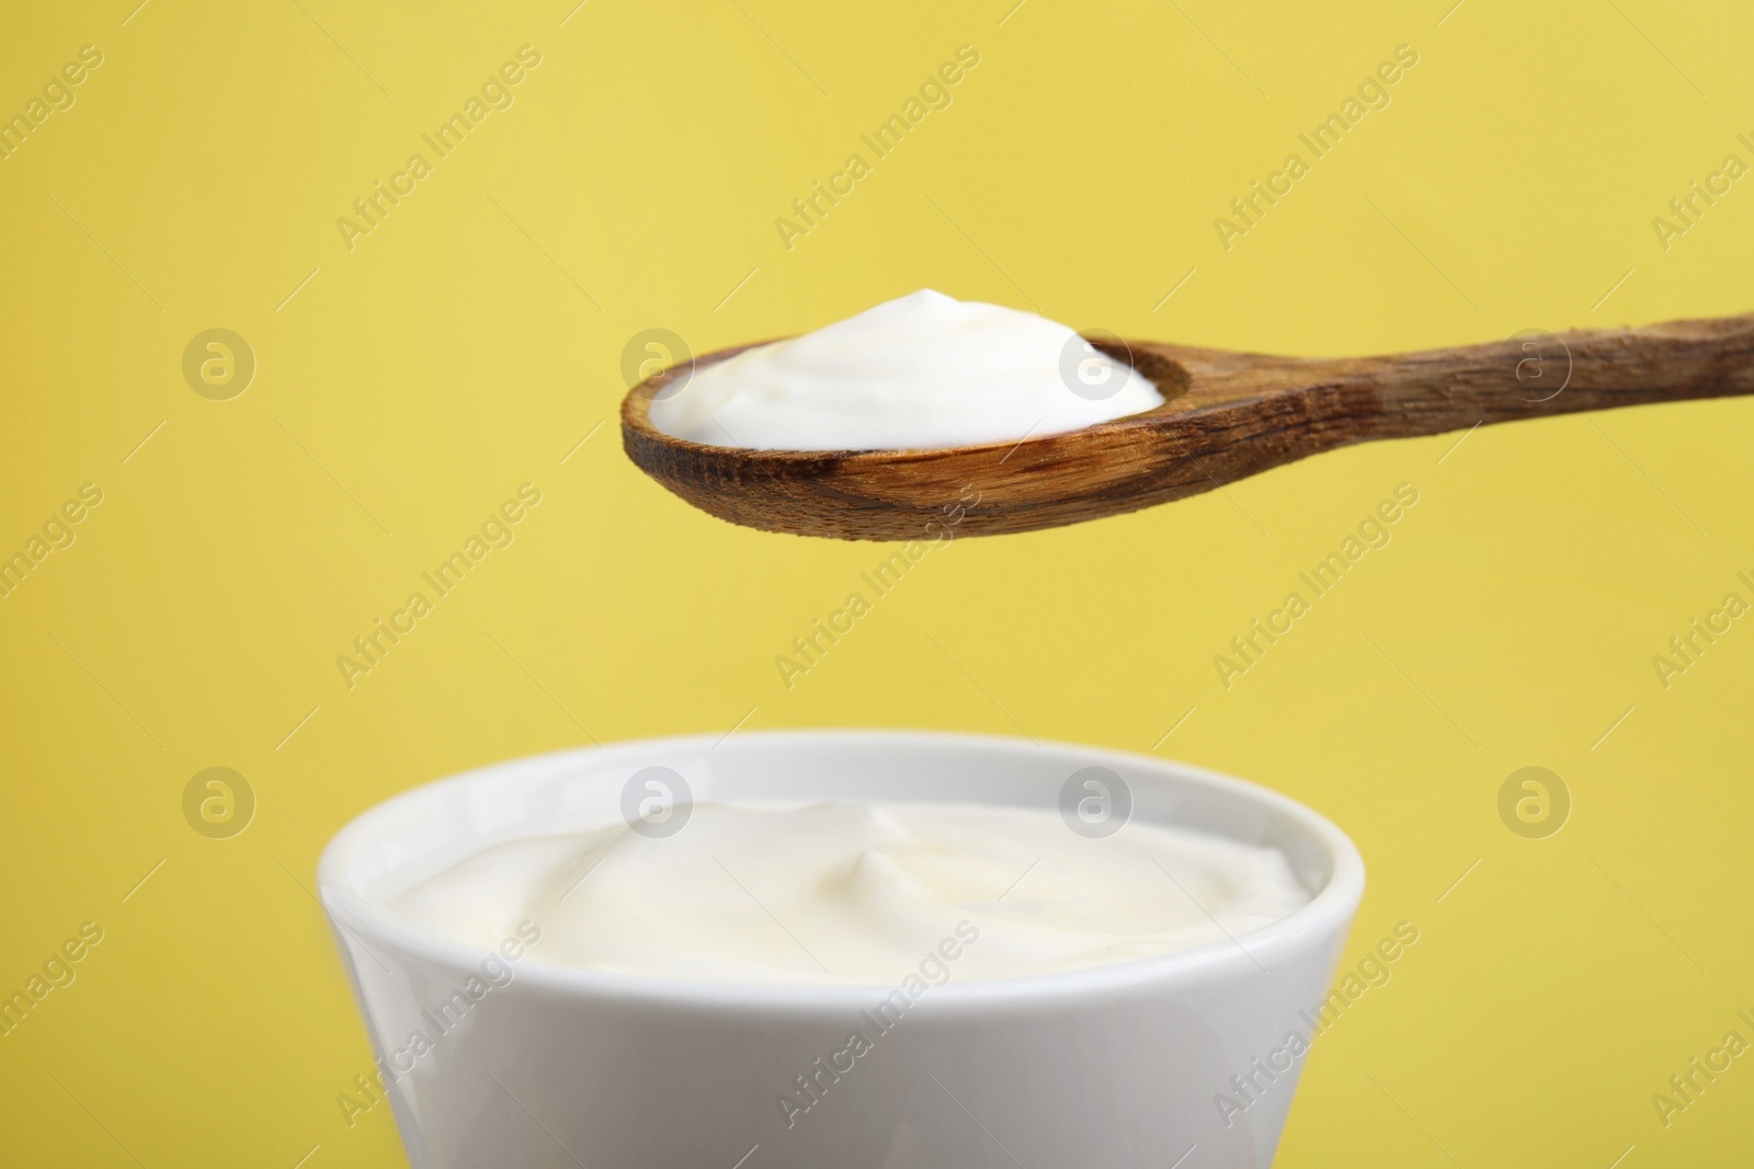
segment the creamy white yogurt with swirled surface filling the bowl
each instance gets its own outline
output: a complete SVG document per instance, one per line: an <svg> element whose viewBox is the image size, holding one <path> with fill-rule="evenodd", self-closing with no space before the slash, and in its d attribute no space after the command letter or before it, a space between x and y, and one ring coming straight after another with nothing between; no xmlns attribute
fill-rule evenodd
<svg viewBox="0 0 1754 1169"><path fill-rule="evenodd" d="M535 962L884 985L930 953L956 953L945 980L996 980L1237 945L1308 899L1273 848L1138 818L1089 840L1052 810L821 803L507 840L382 901L481 950L535 922Z"/></svg>

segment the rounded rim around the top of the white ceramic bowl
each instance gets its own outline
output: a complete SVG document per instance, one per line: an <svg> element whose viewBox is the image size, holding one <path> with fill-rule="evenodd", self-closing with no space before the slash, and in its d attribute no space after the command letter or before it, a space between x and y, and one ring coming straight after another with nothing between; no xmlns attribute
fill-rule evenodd
<svg viewBox="0 0 1754 1169"><path fill-rule="evenodd" d="M375 831L430 801L454 797L454 792L474 789L482 782L503 782L524 771L551 769L563 759L602 759L607 762L616 755L674 755L675 752L696 748L714 750L723 741L723 736L712 734L621 740L598 747L575 747L523 755L421 783L372 804L335 832L317 859L317 897L333 927L351 936L349 939L354 945L365 945L367 948L372 945L386 946L410 959L447 967L460 976L467 976L493 952L475 950L474 946L412 925L370 899L349 880L347 868L351 857L372 841ZM1308 840L1323 847L1326 861L1331 866L1326 885L1316 890L1307 904L1266 925L1230 936L1226 941L1212 941L1154 957L1042 974L973 981L958 981L952 976L947 983L931 985L930 994L912 1001L910 1013L914 1008L926 1008L933 1013L944 1010L1005 1010L1019 1004L1065 1003L1142 988L1161 990L1166 985L1212 983L1254 974L1272 976L1273 964L1280 964L1284 974L1291 978L1312 948L1333 948L1337 953L1363 899L1363 857L1359 857L1358 847L1351 838L1331 820L1289 796L1207 768L1084 743L1056 740L1031 741L1017 736L956 731L879 727L777 729L742 733L737 736L737 741L745 750L761 747L786 750L788 747L858 748L870 745L910 745L924 748L973 748L993 754L1035 754L1040 748L1075 752L1079 759L1087 759L1089 762L1123 762L1131 771L1154 773L1152 778L1221 792L1279 811L1296 822L1307 832ZM968 799L966 803L980 801ZM339 938L337 941L342 939ZM540 960L521 960L514 969L516 976L507 985L507 990L535 987L568 997L617 1003L638 1001L684 1011L735 1008L754 1013L775 1011L786 1015L842 1015L868 1010L873 1001L881 1001L888 992L900 988L900 980L905 978L905 973L900 973L895 981L826 985L695 981L554 966Z"/></svg>

